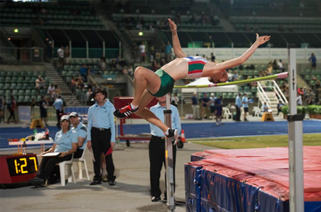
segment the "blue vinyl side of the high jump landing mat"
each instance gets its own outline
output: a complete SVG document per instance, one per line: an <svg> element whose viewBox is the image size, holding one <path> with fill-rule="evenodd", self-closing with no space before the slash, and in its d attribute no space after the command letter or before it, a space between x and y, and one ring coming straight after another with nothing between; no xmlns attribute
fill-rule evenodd
<svg viewBox="0 0 321 212"><path fill-rule="evenodd" d="M187 211L195 211L197 208L194 183L196 169L197 166L185 165ZM258 187L236 181L217 172L202 169L201 173L201 211L288 211L288 202L261 192Z"/></svg>

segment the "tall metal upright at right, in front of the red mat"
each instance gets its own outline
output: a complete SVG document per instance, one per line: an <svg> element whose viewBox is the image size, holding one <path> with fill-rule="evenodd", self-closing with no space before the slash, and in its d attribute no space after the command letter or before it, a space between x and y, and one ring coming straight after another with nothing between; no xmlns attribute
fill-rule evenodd
<svg viewBox="0 0 321 212"><path fill-rule="evenodd" d="M296 49L289 45L289 188L290 212L304 211L303 197L303 131L304 115L297 114Z"/></svg>

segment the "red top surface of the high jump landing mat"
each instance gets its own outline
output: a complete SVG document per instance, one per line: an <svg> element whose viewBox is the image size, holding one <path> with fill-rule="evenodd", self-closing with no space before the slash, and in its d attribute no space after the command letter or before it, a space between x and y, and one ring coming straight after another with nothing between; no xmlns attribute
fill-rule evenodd
<svg viewBox="0 0 321 212"><path fill-rule="evenodd" d="M197 154L199 155L199 153ZM205 150L200 162L203 169L217 171L265 192L289 199L288 148ZM304 199L321 201L321 146L303 147Z"/></svg>

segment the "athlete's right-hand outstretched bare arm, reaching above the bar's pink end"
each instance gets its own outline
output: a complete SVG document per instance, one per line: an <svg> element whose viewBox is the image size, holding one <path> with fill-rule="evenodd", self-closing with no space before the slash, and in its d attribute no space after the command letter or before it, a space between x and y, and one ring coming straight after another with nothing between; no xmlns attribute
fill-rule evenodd
<svg viewBox="0 0 321 212"><path fill-rule="evenodd" d="M255 52L255 50L260 45L264 44L266 41L269 41L270 38L271 38L271 36L259 36L259 34L256 33L255 43L249 49L247 49L247 51L244 52L244 54L242 56L235 58L235 59L224 61L222 63L218 63L218 64L216 64L216 68L220 69L220 70L228 69L228 68L232 68L234 66L238 66L238 65L244 63L245 61L247 61L247 59L249 57L251 57L251 55Z"/></svg>

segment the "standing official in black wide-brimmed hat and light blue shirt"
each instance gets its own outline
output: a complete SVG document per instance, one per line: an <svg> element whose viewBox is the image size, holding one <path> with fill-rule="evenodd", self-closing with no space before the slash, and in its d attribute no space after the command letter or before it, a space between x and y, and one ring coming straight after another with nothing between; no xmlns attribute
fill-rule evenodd
<svg viewBox="0 0 321 212"><path fill-rule="evenodd" d="M109 185L114 186L116 184L115 166L112 158L115 146L115 120L113 114L115 107L106 99L107 95L107 91L97 88L89 96L89 99L94 98L96 100L96 103L88 109L87 147L89 150L92 149L95 159L95 176L89 185L101 184L100 156L102 153L105 156Z"/></svg>

